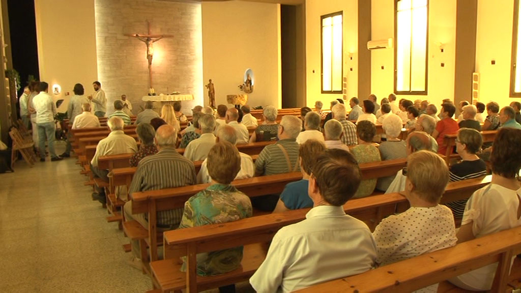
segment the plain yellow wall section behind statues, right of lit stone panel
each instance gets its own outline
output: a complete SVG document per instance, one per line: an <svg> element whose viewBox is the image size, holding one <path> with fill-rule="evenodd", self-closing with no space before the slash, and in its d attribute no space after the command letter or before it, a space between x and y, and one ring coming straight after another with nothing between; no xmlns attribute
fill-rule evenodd
<svg viewBox="0 0 521 293"><path fill-rule="evenodd" d="M216 104L242 93L246 69L255 84L250 106L281 107L280 9L278 4L252 2L202 3L203 80L215 84ZM208 94L204 93L205 104ZM229 105L230 106L230 105Z"/></svg>

